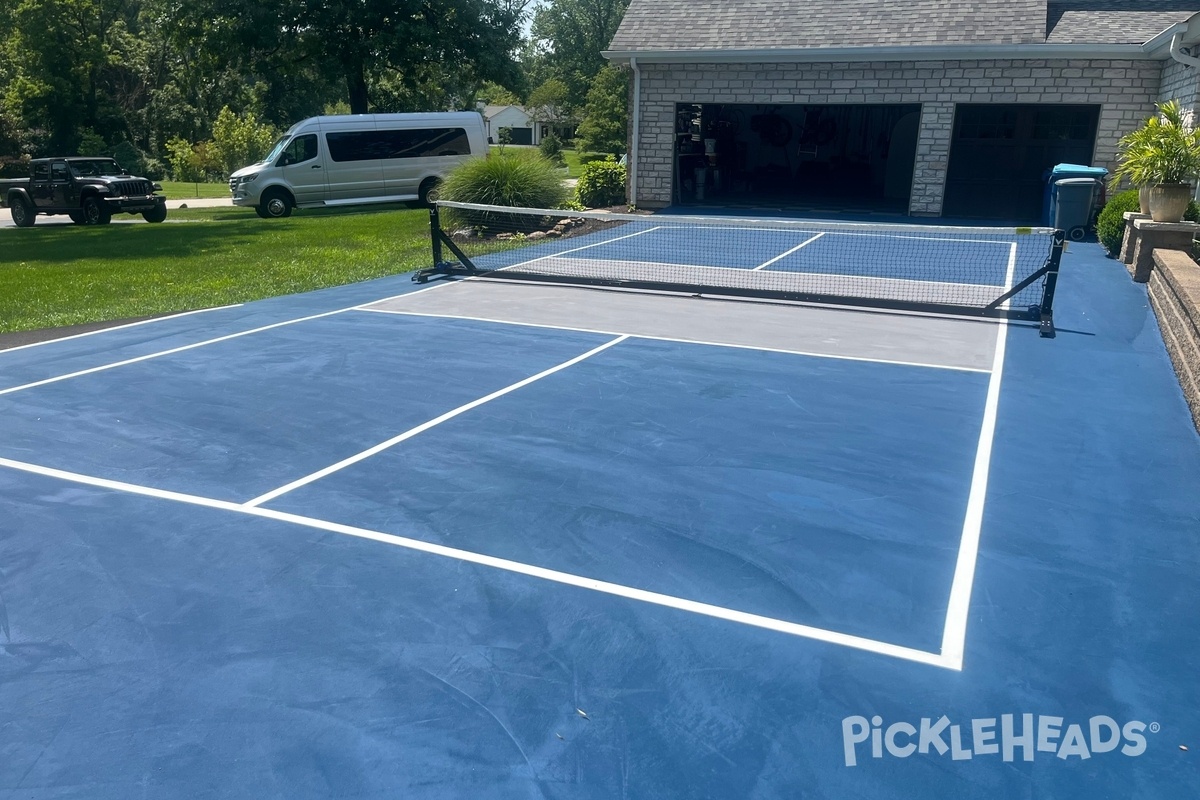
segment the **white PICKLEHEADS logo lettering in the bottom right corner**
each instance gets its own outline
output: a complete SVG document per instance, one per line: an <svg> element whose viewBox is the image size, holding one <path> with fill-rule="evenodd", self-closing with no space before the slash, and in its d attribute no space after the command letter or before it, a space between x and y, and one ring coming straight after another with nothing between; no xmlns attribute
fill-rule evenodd
<svg viewBox="0 0 1200 800"><path fill-rule="evenodd" d="M1118 751L1135 757L1146 752L1146 733L1158 733L1157 722L1146 724L1130 720L1117 723L1110 716L1097 715L1086 722L1063 724L1063 717L1049 715L1003 714L996 717L968 720L955 724L947 716L937 720L922 717L920 722L892 722L883 726L883 717L850 716L841 721L841 744L846 766L857 766L859 756L871 758L883 754L908 758L914 753L946 756L956 762L976 756L1000 756L1006 762L1032 762L1038 753L1056 758L1087 759L1092 756ZM870 742L870 744L868 744ZM863 752L859 753L859 745ZM1020 756L1018 756L1020 753Z"/></svg>

